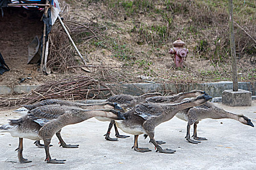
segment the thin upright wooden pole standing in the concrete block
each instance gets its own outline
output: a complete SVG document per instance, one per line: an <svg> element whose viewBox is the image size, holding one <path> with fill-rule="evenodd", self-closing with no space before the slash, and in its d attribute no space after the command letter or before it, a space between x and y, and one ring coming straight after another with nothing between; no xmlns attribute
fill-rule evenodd
<svg viewBox="0 0 256 170"><path fill-rule="evenodd" d="M232 80L233 91L238 91L237 82L237 70L236 70L236 46L234 36L234 24L233 24L233 0L229 0L229 37L230 37L230 51L232 57Z"/></svg>

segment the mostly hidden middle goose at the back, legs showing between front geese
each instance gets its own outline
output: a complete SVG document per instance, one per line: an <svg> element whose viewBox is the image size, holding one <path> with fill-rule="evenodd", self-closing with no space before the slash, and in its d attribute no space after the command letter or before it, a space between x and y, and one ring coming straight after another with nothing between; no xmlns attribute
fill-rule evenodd
<svg viewBox="0 0 256 170"><path fill-rule="evenodd" d="M158 92L156 92L156 93L146 93L146 94L143 94L141 96L132 96L132 95L128 95L128 94L118 94L118 95L115 95L115 96L111 96L110 98L108 98L106 100L106 102L116 102L118 104L121 104L122 108L131 108L131 107L134 107L135 105L137 105L138 103L144 102L145 99L148 98L148 97L161 96L161 95L162 94L158 93ZM98 119L99 121L110 121L107 133L104 135L106 140L118 141L118 138L130 137L130 136L119 134L118 128L117 128L116 123L115 123L114 120L99 118L99 117L95 117L95 118ZM115 136L118 137L118 138L111 138L109 136L113 125L114 125L115 132L116 132Z"/></svg>

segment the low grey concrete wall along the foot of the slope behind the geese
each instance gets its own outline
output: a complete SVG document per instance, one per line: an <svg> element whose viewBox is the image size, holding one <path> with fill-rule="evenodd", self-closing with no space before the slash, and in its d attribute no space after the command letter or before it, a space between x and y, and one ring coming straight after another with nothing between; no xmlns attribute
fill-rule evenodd
<svg viewBox="0 0 256 170"><path fill-rule="evenodd" d="M5 85L0 86L0 95L12 94L12 93L29 93L32 89L35 89L39 85L15 85L14 88L10 88ZM213 97L220 97L224 90L232 89L232 82L217 82L217 83L201 83L201 84L164 84L164 83L136 83L136 84L111 84L115 93L117 94L130 94L139 96L149 92L184 92L194 89L201 89L206 91ZM248 90L252 92L252 95L256 95L256 82L239 82L238 88Z"/></svg>

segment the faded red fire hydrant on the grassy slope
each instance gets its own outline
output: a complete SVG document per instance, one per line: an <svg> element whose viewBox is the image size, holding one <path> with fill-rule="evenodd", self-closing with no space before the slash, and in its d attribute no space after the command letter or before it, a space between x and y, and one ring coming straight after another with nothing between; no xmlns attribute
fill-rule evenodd
<svg viewBox="0 0 256 170"><path fill-rule="evenodd" d="M178 38L173 43L174 48L169 50L170 54L174 54L174 63L176 64L177 68L183 68L183 61L186 60L186 56L188 54L188 49L183 48L185 43Z"/></svg>

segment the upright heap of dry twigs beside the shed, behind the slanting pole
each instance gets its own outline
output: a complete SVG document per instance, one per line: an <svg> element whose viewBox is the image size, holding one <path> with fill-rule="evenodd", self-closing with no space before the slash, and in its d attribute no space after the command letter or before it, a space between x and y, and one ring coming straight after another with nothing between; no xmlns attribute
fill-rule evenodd
<svg viewBox="0 0 256 170"><path fill-rule="evenodd" d="M63 18L63 22L74 40L79 39L79 41L83 42L79 46L83 46L90 40L98 38L99 34L107 29L106 26L98 25L96 22L85 17L83 17L82 22L74 21L74 18L68 15L69 5L64 1L61 2L63 12L60 16ZM70 71L68 67L76 66L80 59L76 58L75 49L58 19L52 27L49 38L50 50L47 66L57 72ZM83 57L87 59L86 55L83 55Z"/></svg>

